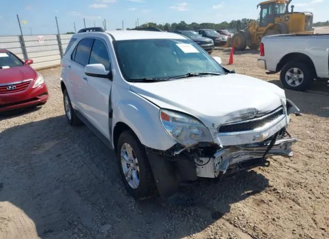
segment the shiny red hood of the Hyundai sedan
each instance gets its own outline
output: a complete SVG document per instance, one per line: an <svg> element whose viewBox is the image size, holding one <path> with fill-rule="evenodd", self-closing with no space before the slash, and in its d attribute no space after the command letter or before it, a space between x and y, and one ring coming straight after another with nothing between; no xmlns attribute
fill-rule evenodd
<svg viewBox="0 0 329 239"><path fill-rule="evenodd" d="M0 84L35 79L36 71L30 66L15 66L8 69L0 69Z"/></svg>

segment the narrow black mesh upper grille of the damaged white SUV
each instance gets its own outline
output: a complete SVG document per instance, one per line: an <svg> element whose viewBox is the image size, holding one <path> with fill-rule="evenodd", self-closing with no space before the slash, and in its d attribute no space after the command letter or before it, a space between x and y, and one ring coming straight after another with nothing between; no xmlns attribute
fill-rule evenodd
<svg viewBox="0 0 329 239"><path fill-rule="evenodd" d="M232 124L225 124L222 125L218 132L219 133L234 133L234 132L244 132L244 131L252 131L259 127L264 126L267 123L270 123L276 119L278 119L280 116L284 115L283 108L280 107L276 109L275 111L259 117L254 118L252 120L246 120L244 122L237 122Z"/></svg>

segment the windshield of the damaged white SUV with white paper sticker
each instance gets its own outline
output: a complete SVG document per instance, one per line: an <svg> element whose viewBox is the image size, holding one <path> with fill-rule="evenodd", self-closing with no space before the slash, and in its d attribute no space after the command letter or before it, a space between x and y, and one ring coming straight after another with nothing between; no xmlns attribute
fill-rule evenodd
<svg viewBox="0 0 329 239"><path fill-rule="evenodd" d="M117 41L115 50L127 81L170 79L197 72L225 74L220 64L190 40Z"/></svg>

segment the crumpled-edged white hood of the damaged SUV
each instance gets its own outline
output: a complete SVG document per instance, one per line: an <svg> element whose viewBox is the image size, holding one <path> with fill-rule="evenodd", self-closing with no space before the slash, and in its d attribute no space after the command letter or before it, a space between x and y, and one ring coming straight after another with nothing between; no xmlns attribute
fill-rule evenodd
<svg viewBox="0 0 329 239"><path fill-rule="evenodd" d="M160 108L192 115L208 127L218 127L254 109L268 113L285 98L280 87L239 74L133 83L131 90Z"/></svg>

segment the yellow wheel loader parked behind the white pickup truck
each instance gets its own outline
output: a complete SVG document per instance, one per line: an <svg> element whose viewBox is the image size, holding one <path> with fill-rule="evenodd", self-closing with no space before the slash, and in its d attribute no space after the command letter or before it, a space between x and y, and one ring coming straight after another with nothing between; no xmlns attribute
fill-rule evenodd
<svg viewBox="0 0 329 239"><path fill-rule="evenodd" d="M260 3L260 15L257 21L252 21L248 26L237 32L232 37L232 46L236 50L258 49L263 36L277 34L314 34L313 13L294 12L294 5L289 5L292 0L271 0Z"/></svg>

